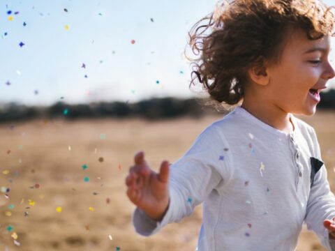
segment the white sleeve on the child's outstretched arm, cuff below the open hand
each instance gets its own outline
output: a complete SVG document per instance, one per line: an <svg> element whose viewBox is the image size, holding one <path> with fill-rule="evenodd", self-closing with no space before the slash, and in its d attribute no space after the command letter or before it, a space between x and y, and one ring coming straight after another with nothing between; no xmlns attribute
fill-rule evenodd
<svg viewBox="0 0 335 251"><path fill-rule="evenodd" d="M151 220L139 208L135 209L133 225L137 233L150 236L170 222L179 222L191 215L195 206L219 185L227 183L230 177L227 149L228 143L218 128L213 125L206 128L184 156L170 165L170 203L161 222Z"/></svg>

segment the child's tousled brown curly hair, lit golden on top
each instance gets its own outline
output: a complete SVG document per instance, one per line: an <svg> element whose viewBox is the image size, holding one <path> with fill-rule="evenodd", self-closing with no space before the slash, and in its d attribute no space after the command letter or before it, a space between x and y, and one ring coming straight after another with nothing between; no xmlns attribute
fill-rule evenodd
<svg viewBox="0 0 335 251"><path fill-rule="evenodd" d="M232 106L243 100L248 69L266 59L276 65L292 28L309 40L335 36L334 13L321 0L223 0L192 27L188 45L191 85L200 82L209 105ZM208 102L207 102L208 104Z"/></svg>

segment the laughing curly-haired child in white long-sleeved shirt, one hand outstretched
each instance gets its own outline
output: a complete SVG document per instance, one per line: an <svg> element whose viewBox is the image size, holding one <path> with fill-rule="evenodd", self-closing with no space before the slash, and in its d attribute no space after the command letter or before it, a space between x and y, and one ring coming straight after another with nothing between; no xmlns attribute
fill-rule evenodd
<svg viewBox="0 0 335 251"><path fill-rule="evenodd" d="M335 199L318 139L293 115L314 114L335 76L334 20L320 1L235 0L195 24L192 83L241 105L158 174L135 155L126 185L138 233L154 234L204 202L198 250L295 250L304 222L335 250Z"/></svg>

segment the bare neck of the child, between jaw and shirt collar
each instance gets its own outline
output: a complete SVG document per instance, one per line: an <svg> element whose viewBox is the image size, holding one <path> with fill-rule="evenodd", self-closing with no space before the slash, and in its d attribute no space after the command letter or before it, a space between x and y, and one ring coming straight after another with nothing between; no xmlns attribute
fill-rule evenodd
<svg viewBox="0 0 335 251"><path fill-rule="evenodd" d="M282 132L290 133L295 130L295 126L290 120L290 114L278 107L267 106L261 102L248 102L247 100L244 100L241 107L260 121Z"/></svg>

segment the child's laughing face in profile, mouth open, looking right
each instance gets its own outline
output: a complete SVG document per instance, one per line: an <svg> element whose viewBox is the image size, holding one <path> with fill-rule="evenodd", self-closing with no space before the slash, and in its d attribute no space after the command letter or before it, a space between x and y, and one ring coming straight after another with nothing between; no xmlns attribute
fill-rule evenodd
<svg viewBox="0 0 335 251"><path fill-rule="evenodd" d="M322 51L306 53L314 48ZM287 113L314 114L320 91L335 75L328 61L329 50L329 36L308 40L303 31L294 31L285 45L281 63L267 68L267 100ZM316 93L311 89L316 89Z"/></svg>

